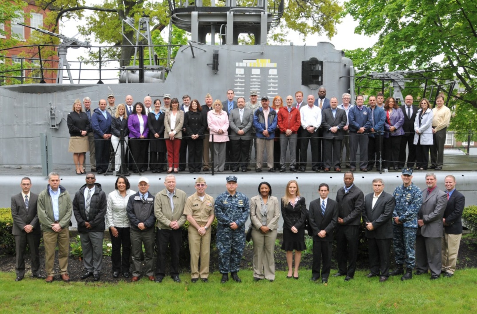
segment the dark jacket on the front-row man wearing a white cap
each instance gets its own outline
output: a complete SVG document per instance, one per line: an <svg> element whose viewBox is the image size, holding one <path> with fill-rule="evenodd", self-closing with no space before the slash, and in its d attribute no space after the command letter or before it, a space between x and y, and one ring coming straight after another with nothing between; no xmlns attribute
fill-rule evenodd
<svg viewBox="0 0 477 314"><path fill-rule="evenodd" d="M156 216L154 216L154 196L149 192L147 192L146 201L141 199L139 192L129 197L126 212L129 221L131 222L131 229L136 231L146 231L150 228L154 228L154 225L156 224ZM139 223L144 223L144 226L147 229L140 230L137 227Z"/></svg>

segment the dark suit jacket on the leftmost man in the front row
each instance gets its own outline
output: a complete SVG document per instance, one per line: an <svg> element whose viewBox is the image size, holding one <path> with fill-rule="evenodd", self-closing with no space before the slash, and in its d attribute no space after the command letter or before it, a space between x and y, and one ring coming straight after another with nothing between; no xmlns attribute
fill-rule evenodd
<svg viewBox="0 0 477 314"><path fill-rule="evenodd" d="M11 196L11 217L13 218L12 235L26 235L23 229L26 225L33 226L32 233L40 234L40 222L38 220L36 203L38 201L38 194L30 192L30 199L28 202L28 211L25 206L25 200L21 193Z"/></svg>

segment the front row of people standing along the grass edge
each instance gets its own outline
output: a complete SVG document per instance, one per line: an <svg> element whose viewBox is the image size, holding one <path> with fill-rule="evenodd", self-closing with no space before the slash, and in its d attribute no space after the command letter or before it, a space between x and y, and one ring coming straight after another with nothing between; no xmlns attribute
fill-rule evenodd
<svg viewBox="0 0 477 314"><path fill-rule="evenodd" d="M364 196L354 184L353 172L344 173L344 186L336 199L328 197L330 188L319 185L320 197L307 209L296 180L288 182L279 200L272 196L268 182L261 182L258 195L250 199L237 191L238 179L226 178L227 190L215 199L206 194L203 177L195 180L196 192L187 197L176 188L176 177L165 177L165 188L155 196L149 192L147 177L139 177L138 192L130 189L125 176L116 179L115 189L107 196L92 172L73 197L60 185L59 174L48 176L48 186L39 195L31 193L31 180L21 179L21 193L11 198L13 235L16 243L16 281L25 275L24 255L28 244L33 277L40 273L39 244L41 231L45 247L46 282L54 280L55 248L58 246L60 276L69 281L68 255L70 220L74 214L83 249L82 279L100 280L104 230L109 229L112 242L113 277L141 278L141 254L144 247L145 277L161 283L166 276L166 254L170 250L169 274L180 282L179 253L181 227L188 225L191 281L208 281L211 224L217 218L217 248L221 282L240 282L240 261L245 248L246 221L253 240L253 278L275 280L274 247L280 215L283 217L283 243L286 251L287 278L299 279L301 251L306 249L305 228L313 239L312 281L327 283L331 269L332 241L336 237L338 272L334 277L354 277L361 219L368 238L370 273L384 282L389 275L401 280L431 272L431 279L441 274L451 277L456 270L457 253L462 236L461 216L465 197L456 190L454 176L445 177L446 191L437 187L434 173L425 176L423 191L412 182L411 168L402 170L403 184L393 194L384 192L384 180L372 182L373 193ZM395 269L390 272L390 249L394 244ZM154 250L157 249L156 267ZM295 263L293 267L293 251ZM132 260L132 265L130 263ZM200 260L200 263L199 263ZM321 266L322 265L322 266ZM131 267L132 266L132 267ZM131 270L132 268L132 270Z"/></svg>

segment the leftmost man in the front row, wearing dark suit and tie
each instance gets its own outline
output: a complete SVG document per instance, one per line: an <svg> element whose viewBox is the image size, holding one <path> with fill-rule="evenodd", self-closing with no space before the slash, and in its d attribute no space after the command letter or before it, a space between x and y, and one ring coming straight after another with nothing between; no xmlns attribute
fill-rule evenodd
<svg viewBox="0 0 477 314"><path fill-rule="evenodd" d="M29 177L21 179L21 193L11 196L11 217L13 218L12 235L15 237L15 271L20 281L25 276L25 251L30 247L31 275L36 278L44 278L40 274L40 222L36 212L38 195L31 193L31 180Z"/></svg>

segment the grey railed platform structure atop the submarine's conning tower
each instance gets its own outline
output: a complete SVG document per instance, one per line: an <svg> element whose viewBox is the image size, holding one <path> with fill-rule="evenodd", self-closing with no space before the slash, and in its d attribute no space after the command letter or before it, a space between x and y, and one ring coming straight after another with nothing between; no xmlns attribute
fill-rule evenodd
<svg viewBox="0 0 477 314"><path fill-rule="evenodd" d="M250 7L238 7L237 0L225 0L225 7L216 6L218 0L211 0L211 6L203 6L202 0L191 4L186 0L176 4L169 1L171 22L192 34L192 40L205 43L207 34L215 45L215 35L221 38L219 44L237 45L239 34L253 34L256 45L267 43L270 28L280 23L283 15L283 0L255 0Z"/></svg>

